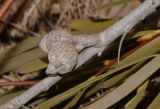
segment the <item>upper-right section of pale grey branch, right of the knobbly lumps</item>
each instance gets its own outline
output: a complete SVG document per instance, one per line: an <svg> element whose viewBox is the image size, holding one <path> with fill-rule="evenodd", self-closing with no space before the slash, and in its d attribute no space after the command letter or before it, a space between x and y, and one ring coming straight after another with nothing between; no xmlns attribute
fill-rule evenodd
<svg viewBox="0 0 160 109"><path fill-rule="evenodd" d="M120 35L123 35L126 31L132 29L138 22L143 20L149 14L156 11L156 8L160 5L160 0L146 0L139 7L125 16L123 19L115 23L113 26L107 28L99 34L101 38L102 47L88 48L79 55L77 67L84 64L95 54L101 53L104 49ZM89 54L89 55L88 55Z"/></svg>

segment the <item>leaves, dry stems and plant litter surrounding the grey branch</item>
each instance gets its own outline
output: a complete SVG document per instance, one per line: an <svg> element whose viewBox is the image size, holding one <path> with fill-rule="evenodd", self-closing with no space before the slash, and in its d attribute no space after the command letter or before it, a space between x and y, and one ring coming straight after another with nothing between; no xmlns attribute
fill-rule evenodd
<svg viewBox="0 0 160 109"><path fill-rule="evenodd" d="M53 29L98 33L142 0L0 0L0 105L45 78L47 56L38 47ZM91 59L22 108L75 109L97 100L109 109L160 107L160 14L155 12L119 39L102 57ZM102 108L102 107L97 107Z"/></svg>

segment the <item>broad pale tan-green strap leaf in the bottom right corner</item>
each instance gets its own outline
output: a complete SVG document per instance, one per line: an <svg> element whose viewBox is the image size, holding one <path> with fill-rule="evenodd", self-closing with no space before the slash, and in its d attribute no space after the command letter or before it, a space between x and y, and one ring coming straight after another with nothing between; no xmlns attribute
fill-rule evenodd
<svg viewBox="0 0 160 109"><path fill-rule="evenodd" d="M118 86L109 94L101 97L91 105L84 107L85 109L106 109L117 103L129 93L131 93L135 88L142 84L146 79L148 79L155 71L160 68L160 55L156 56L150 62L148 62L144 67L138 70L135 74L130 76L122 85ZM145 72L145 73L144 73Z"/></svg>

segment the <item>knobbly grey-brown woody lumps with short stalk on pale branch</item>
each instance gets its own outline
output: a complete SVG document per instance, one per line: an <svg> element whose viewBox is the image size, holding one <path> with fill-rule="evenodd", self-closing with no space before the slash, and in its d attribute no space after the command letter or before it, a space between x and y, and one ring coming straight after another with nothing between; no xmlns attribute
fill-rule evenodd
<svg viewBox="0 0 160 109"><path fill-rule="evenodd" d="M72 71L78 60L78 53L86 47L99 43L97 35L73 37L64 30L53 30L41 40L40 48L48 53L48 74L64 74ZM55 75L56 76L56 75Z"/></svg>

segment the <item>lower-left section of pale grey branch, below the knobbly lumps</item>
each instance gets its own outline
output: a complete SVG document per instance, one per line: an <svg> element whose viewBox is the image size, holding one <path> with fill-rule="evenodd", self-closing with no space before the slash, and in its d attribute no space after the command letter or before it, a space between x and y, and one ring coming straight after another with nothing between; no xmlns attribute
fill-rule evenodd
<svg viewBox="0 0 160 109"><path fill-rule="evenodd" d="M22 95L17 96L10 100L8 103L2 105L0 109L18 109L23 104L37 96L38 94L47 91L53 84L59 81L61 77L47 77L24 92Z"/></svg>

